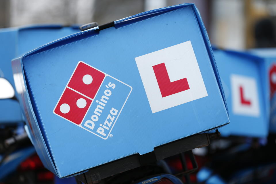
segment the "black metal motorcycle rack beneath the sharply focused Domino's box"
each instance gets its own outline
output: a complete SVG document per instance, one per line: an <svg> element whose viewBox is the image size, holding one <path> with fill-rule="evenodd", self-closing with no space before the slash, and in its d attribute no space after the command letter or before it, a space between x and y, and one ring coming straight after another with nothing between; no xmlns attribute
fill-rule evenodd
<svg viewBox="0 0 276 184"><path fill-rule="evenodd" d="M96 166L89 169L86 173L77 175L76 181L83 182L85 184L99 183L102 179L110 176L114 176L118 173L123 173L125 171L138 168L140 166L145 166L152 164L158 160L168 158L179 154L184 157L184 152L189 154L189 157L193 157L191 150L194 148L201 148L208 146L211 139L217 139L220 137L220 133L216 130L215 133L202 133L191 135L183 139L179 139L164 145L160 145L154 148L154 151L147 154L133 154L112 162ZM190 151L190 152L189 152ZM194 160L194 158L193 158ZM182 165L185 166L185 159L181 159ZM179 173L179 175L187 175L197 169L197 164L193 163L193 169L187 170L183 168L184 172ZM187 178L186 178L187 179Z"/></svg>

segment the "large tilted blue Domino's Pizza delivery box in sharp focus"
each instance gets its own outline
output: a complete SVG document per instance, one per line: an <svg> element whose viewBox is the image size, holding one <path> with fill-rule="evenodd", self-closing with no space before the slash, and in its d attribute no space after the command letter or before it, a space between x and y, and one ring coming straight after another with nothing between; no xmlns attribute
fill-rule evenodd
<svg viewBox="0 0 276 184"><path fill-rule="evenodd" d="M34 146L59 177L229 123L192 3L70 35L12 67Z"/></svg>

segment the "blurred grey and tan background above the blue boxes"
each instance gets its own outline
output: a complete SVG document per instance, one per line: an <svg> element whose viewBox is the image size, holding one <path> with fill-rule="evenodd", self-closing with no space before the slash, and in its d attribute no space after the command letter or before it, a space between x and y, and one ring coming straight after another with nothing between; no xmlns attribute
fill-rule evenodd
<svg viewBox="0 0 276 184"><path fill-rule="evenodd" d="M195 3L211 43L229 49L275 47L275 0L1 0L0 28L108 23L143 11Z"/></svg>

